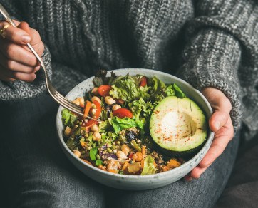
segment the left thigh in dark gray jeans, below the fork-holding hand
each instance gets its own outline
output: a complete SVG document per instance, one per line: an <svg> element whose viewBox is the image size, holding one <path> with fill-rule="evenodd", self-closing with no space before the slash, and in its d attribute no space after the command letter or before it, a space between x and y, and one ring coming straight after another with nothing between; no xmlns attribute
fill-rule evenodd
<svg viewBox="0 0 258 208"><path fill-rule="evenodd" d="M59 147L57 108L48 95L1 103L5 119L0 125L4 136L0 160L5 167L2 174L10 179L6 182L9 203L14 207L101 207L103 187L76 170Z"/></svg>

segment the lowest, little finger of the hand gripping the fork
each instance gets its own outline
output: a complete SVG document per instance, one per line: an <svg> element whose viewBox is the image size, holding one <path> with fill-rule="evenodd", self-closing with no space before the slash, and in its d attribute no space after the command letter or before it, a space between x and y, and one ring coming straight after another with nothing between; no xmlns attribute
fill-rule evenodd
<svg viewBox="0 0 258 208"><path fill-rule="evenodd" d="M9 71L6 68L0 68L0 75L4 78L23 80L26 82L32 82L36 78L35 73L21 73L16 71Z"/></svg>

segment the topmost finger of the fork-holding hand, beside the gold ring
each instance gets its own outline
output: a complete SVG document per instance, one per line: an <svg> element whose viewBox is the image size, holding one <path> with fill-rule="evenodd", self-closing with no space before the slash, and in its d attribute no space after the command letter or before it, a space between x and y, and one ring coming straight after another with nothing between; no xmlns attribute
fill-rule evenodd
<svg viewBox="0 0 258 208"><path fill-rule="evenodd" d="M4 28L6 25L9 25L9 23L6 21L0 21L0 28ZM9 28L6 28L4 30L4 36L13 43L26 44L31 41L29 33L26 33L26 31L22 30L21 28L16 28L14 26L9 26Z"/></svg>

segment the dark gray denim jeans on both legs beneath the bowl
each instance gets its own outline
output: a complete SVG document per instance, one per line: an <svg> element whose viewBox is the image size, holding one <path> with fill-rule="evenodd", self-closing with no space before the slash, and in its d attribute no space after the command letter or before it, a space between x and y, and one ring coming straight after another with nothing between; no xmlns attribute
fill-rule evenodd
<svg viewBox="0 0 258 208"><path fill-rule="evenodd" d="M68 161L56 138L49 95L0 103L0 203L9 207L213 207L225 188L239 136L199 180L122 191L98 184ZM0 207L7 205L0 204Z"/></svg>

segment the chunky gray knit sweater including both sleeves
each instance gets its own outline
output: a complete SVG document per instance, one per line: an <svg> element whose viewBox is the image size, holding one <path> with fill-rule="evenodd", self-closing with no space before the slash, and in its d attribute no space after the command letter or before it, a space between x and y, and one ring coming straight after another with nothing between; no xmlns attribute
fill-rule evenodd
<svg viewBox="0 0 258 208"><path fill-rule="evenodd" d="M53 85L68 90L98 68L153 68L201 90L213 86L232 103L251 138L258 129L258 6L253 0L0 0L41 34ZM0 99L46 91L33 83L0 82ZM242 109L241 109L242 108Z"/></svg>

